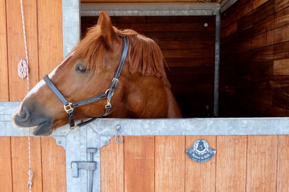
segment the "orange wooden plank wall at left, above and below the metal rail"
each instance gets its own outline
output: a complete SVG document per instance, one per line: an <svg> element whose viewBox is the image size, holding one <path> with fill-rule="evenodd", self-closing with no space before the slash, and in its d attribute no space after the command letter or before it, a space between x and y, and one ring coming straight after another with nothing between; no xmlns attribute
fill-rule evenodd
<svg viewBox="0 0 289 192"><path fill-rule="evenodd" d="M23 1L30 89L63 59L61 1ZM19 0L0 0L0 101L21 101L27 81L17 74L25 59ZM51 55L53 55L51 57ZM65 151L51 137L32 137L32 191L66 191ZM0 191L27 191L27 137L0 137ZM3 188L4 187L4 188Z"/></svg>

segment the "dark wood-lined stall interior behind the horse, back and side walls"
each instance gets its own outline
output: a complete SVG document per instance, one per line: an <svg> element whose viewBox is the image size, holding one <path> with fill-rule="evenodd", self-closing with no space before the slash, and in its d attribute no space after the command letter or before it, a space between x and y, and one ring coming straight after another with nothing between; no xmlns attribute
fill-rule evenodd
<svg viewBox="0 0 289 192"><path fill-rule="evenodd" d="M239 0L221 14L219 117L289 116L289 8L278 2ZM97 19L81 17L82 37ZM157 40L184 118L213 117L215 16L111 19Z"/></svg>

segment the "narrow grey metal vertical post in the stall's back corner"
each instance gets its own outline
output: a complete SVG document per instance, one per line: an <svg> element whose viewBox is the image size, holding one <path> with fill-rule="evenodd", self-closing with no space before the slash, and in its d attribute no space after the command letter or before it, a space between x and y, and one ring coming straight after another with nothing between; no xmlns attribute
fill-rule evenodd
<svg viewBox="0 0 289 192"><path fill-rule="evenodd" d="M215 44L215 77L214 77L214 116L219 116L219 66L220 66L220 12L216 13L216 44Z"/></svg>

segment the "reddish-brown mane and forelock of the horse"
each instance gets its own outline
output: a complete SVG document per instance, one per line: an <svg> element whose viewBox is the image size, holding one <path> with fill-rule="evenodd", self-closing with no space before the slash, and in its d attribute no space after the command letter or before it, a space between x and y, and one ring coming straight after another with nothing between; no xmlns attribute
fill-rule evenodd
<svg viewBox="0 0 289 192"><path fill-rule="evenodd" d="M134 30L125 29L119 31L115 27L114 29L118 36L127 36L129 38L130 46L127 55L130 64L129 72L162 78L164 85L170 87L171 85L164 70L166 61L158 44ZM81 58L86 64L93 64L92 68L101 68L103 66L100 66L100 64L104 63L104 57L96 57L95 55L103 55L106 49L101 38L100 27L95 25L88 29L84 39L72 50L73 56L71 59L79 60Z"/></svg>

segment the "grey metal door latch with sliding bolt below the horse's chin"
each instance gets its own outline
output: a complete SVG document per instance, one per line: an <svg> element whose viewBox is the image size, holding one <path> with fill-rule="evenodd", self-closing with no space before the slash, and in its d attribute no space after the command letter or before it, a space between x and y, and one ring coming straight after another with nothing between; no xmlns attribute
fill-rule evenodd
<svg viewBox="0 0 289 192"><path fill-rule="evenodd" d="M78 169L86 169L89 171L89 192L92 192L93 171L96 169L96 162L93 161L93 154L97 152L97 148L87 148L90 153L90 161L71 161L72 177L78 178Z"/></svg>

